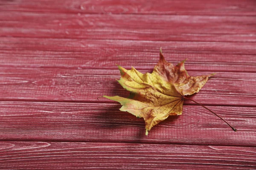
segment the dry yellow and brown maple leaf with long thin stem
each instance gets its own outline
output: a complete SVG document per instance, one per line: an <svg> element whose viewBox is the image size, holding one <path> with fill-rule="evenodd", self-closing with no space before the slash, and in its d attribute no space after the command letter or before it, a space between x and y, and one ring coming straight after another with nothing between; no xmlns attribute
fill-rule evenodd
<svg viewBox="0 0 256 170"><path fill-rule="evenodd" d="M185 95L197 93L208 78L214 75L191 77L184 68L184 62L185 60L176 66L166 62L160 49L160 60L151 74L142 74L133 67L131 70L126 70L118 66L121 73L121 79L118 82L123 88L131 92L130 96L128 98L120 96L103 97L119 102L122 105L120 111L127 111L139 118L143 117L146 125L146 135L148 135L148 131L154 125L157 125L169 115L182 114ZM235 129L233 128L233 130Z"/></svg>

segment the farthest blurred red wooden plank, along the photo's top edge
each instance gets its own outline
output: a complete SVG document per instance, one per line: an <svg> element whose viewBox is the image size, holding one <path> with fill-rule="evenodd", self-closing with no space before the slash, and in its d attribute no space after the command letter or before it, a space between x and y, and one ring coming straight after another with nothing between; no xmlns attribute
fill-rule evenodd
<svg viewBox="0 0 256 170"><path fill-rule="evenodd" d="M0 11L89 14L256 15L254 0L14 0L1 1Z"/></svg>

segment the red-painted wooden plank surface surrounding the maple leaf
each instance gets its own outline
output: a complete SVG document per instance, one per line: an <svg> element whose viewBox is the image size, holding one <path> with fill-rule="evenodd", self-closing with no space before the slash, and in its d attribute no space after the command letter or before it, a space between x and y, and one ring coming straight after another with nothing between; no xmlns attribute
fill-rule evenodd
<svg viewBox="0 0 256 170"><path fill-rule="evenodd" d="M191 76L217 73L145 136L97 97L163 48ZM0 0L0 169L256 169L255 0Z"/></svg>

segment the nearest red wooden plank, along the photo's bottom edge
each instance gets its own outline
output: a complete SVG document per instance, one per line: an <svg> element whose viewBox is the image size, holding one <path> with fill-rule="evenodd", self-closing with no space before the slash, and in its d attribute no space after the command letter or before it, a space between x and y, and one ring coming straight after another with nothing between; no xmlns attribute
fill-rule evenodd
<svg viewBox="0 0 256 170"><path fill-rule="evenodd" d="M0 142L10 169L255 169L253 147L126 143Z"/></svg>

